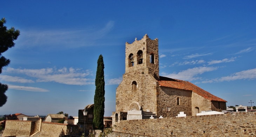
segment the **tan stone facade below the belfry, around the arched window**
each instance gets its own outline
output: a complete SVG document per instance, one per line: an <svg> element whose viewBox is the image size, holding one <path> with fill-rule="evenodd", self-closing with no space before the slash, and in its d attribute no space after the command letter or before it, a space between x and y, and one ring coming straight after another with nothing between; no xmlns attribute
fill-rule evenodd
<svg viewBox="0 0 256 137"><path fill-rule="evenodd" d="M156 113L156 87L158 82L150 74L143 73L144 69L123 75L123 80L116 89L116 111L130 111L130 108L142 107ZM132 90L132 82L136 81L136 91ZM134 105L137 104L137 107ZM132 106L131 106L132 105ZM130 107L131 106L131 107Z"/></svg>

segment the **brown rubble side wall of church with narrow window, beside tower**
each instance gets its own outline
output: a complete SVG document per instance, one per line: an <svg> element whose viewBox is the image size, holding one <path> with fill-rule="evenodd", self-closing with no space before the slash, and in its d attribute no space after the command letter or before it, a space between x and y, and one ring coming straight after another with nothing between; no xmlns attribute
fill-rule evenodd
<svg viewBox="0 0 256 137"><path fill-rule="evenodd" d="M177 98L179 98L179 103ZM187 116L192 116L191 91L161 86L157 104L157 117L160 117L160 115L163 117L175 117L180 112L184 112ZM167 111L167 107L170 108L170 112Z"/></svg>

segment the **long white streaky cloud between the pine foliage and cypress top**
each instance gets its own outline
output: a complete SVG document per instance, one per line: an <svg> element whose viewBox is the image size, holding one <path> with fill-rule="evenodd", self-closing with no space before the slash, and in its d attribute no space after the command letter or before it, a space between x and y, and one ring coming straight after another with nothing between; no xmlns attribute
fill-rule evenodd
<svg viewBox="0 0 256 137"><path fill-rule="evenodd" d="M22 73L30 77L38 78L36 82L58 82L68 85L88 85L93 84L92 79L84 78L91 74L89 70L80 72L80 69L63 67L62 69L56 68L43 68L43 69L14 69L8 67L8 73Z"/></svg>

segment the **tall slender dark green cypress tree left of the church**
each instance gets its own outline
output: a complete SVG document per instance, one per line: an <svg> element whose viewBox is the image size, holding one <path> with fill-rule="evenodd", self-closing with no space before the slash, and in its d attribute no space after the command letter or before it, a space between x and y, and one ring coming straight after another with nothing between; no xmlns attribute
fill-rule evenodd
<svg viewBox="0 0 256 137"><path fill-rule="evenodd" d="M94 119L93 129L103 129L103 118L105 108L105 81L104 81L104 63L103 56L100 55L97 62L97 72L95 78L95 95L94 95Z"/></svg>

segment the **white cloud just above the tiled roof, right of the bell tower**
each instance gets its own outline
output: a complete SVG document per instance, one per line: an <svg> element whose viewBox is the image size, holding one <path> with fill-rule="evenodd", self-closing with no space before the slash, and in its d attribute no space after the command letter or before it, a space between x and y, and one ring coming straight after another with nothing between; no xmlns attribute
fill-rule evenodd
<svg viewBox="0 0 256 137"><path fill-rule="evenodd" d="M205 72L214 71L217 67L195 67L187 70L183 70L179 73L166 74L162 73L164 77L181 79L184 81L193 81L199 79L197 75L203 74Z"/></svg>

